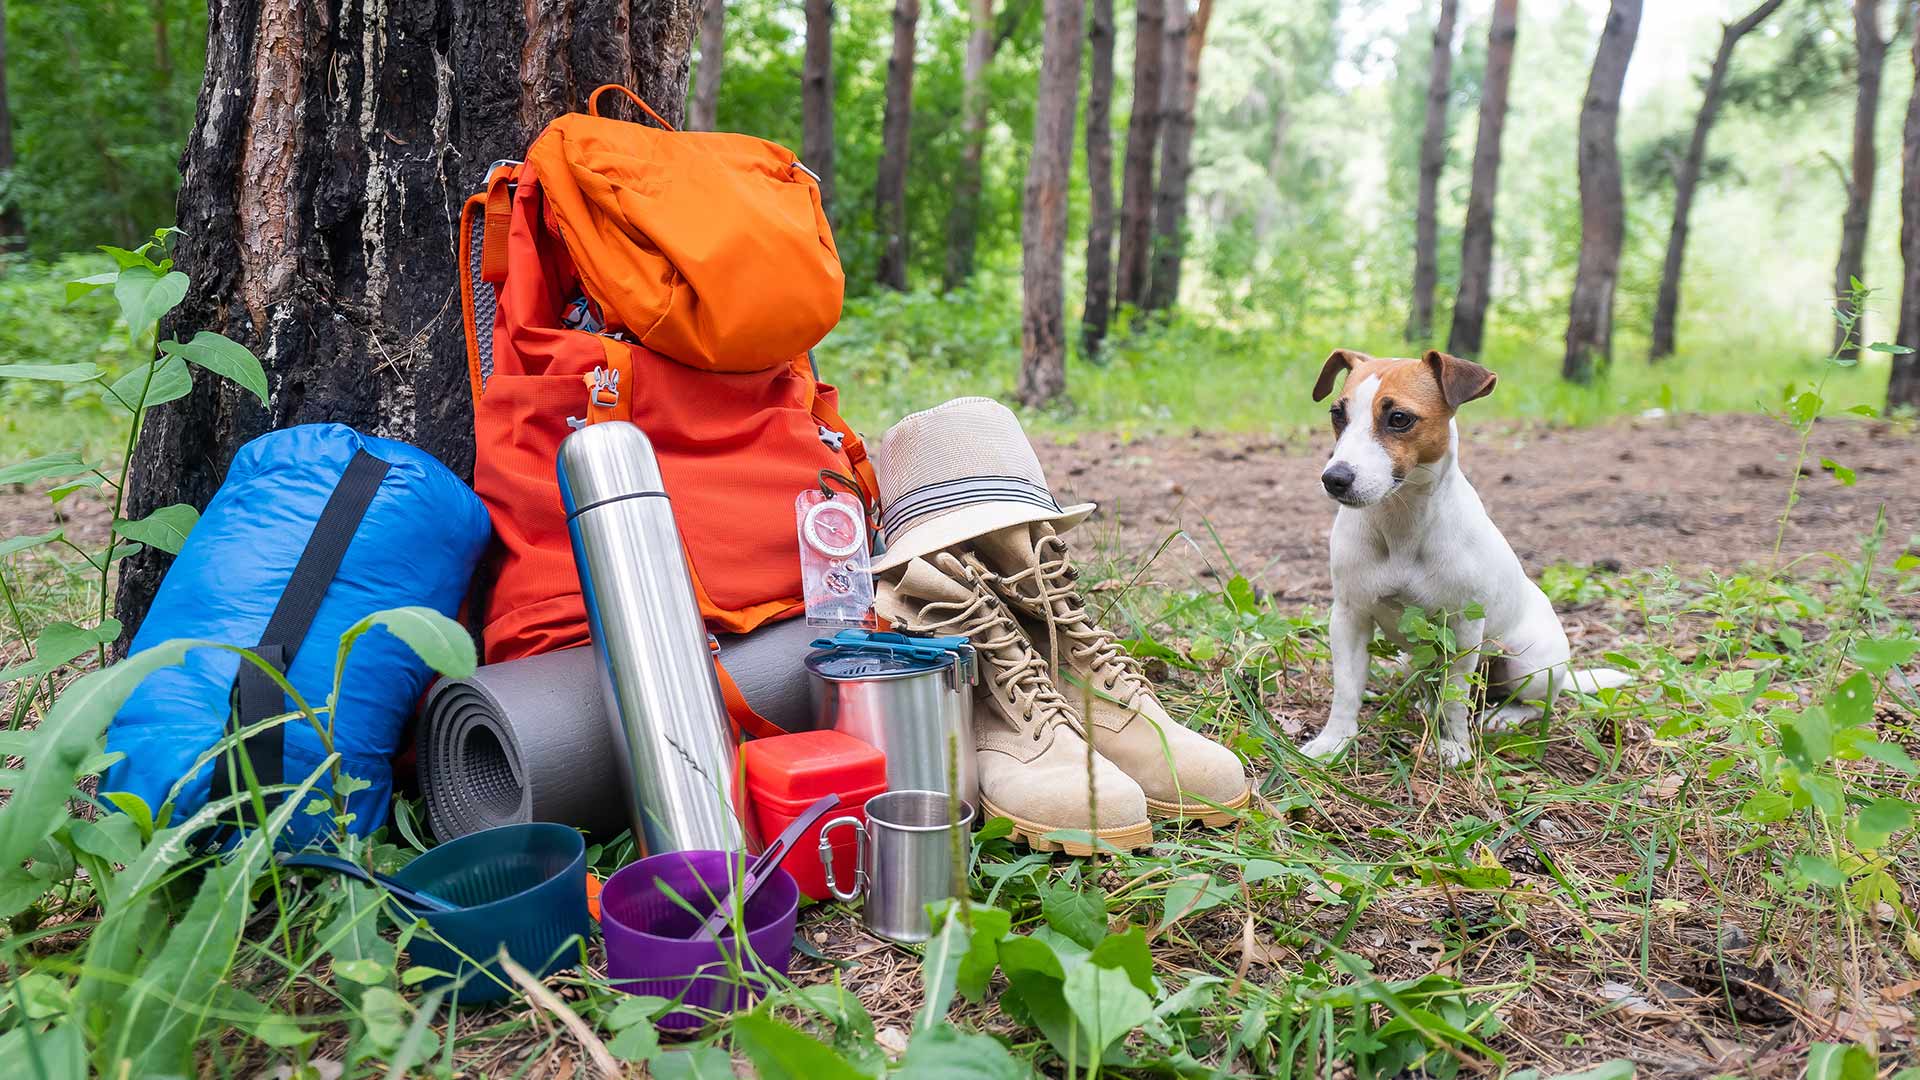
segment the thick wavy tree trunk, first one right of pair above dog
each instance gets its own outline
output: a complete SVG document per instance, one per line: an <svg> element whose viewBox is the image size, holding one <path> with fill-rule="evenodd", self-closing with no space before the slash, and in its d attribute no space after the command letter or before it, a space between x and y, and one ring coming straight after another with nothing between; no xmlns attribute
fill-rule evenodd
<svg viewBox="0 0 1920 1080"><path fill-rule="evenodd" d="M1620 85L1640 37L1640 0L1613 0L1607 27L1594 50L1594 73L1580 106L1580 267L1567 315L1567 357L1561 375L1590 382L1596 361L1613 359L1613 286L1626 242L1620 194Z"/></svg>

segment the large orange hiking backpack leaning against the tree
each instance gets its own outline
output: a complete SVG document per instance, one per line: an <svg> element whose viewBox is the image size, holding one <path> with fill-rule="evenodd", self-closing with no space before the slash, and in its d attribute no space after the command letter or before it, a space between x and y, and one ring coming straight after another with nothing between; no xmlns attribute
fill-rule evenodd
<svg viewBox="0 0 1920 1080"><path fill-rule="evenodd" d="M659 127L599 115L607 90ZM488 663L588 644L553 473L580 423L624 419L653 440L708 630L803 609L793 498L822 471L877 496L808 354L841 286L818 183L791 150L674 131L624 86L549 123L524 163L495 163L461 213L474 490L499 538L482 575Z"/></svg>

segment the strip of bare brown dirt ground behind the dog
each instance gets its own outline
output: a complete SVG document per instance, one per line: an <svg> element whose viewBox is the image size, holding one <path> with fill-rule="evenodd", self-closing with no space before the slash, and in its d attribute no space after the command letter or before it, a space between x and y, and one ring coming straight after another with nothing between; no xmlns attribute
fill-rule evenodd
<svg viewBox="0 0 1920 1080"><path fill-rule="evenodd" d="M1799 446L1793 430L1757 415L1563 430L1463 425L1461 442L1461 469L1532 573L1559 561L1682 571L1764 563ZM1223 573L1223 548L1279 600L1325 601L1334 503L1319 471L1329 448L1331 436L1286 446L1196 432L1133 442L1087 434L1039 452L1062 503L1100 503L1083 527L1100 548L1144 557L1177 528L1188 534L1156 563L1158 580ZM1853 469L1853 486L1822 457ZM1857 555L1882 505L1897 553L1920 530L1920 434L1822 421L1782 559Z"/></svg>

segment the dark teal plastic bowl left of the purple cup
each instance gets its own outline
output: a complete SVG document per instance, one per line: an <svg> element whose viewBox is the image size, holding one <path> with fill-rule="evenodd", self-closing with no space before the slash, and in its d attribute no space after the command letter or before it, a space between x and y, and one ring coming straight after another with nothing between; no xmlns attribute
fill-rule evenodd
<svg viewBox="0 0 1920 1080"><path fill-rule="evenodd" d="M536 978L572 967L580 942L593 934L588 915L588 847L564 824L503 824L442 844L407 863L394 878L457 903L459 911L422 915L438 934L415 934L415 965L453 972L422 990L467 978L459 999L501 1001L516 994L499 969L499 949ZM570 942L578 938L580 942ZM465 953L465 957L461 955Z"/></svg>

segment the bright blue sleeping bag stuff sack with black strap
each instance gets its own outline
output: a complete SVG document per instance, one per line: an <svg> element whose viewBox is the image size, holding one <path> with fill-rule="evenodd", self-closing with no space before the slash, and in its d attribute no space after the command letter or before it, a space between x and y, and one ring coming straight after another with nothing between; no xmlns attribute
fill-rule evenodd
<svg viewBox="0 0 1920 1080"><path fill-rule="evenodd" d="M319 707L332 692L340 634L388 607L453 615L490 532L480 498L422 450L342 425L269 432L234 455L131 651L171 638L252 648ZM390 759L428 678L413 650L378 626L348 655L334 749L348 776L371 784L348 796L353 832L386 821ZM150 675L113 717L108 749L125 757L108 769L100 790L131 792L157 811L230 721L244 726L292 709L255 665L242 669L234 653L194 650L184 663ZM244 746L261 786L300 784L326 757L303 717ZM209 796L242 788L238 755L223 755L180 788L173 821L186 821ZM317 784L330 788L330 776ZM324 817L294 813L280 842L305 844L324 826Z"/></svg>

